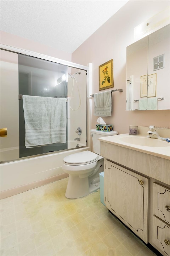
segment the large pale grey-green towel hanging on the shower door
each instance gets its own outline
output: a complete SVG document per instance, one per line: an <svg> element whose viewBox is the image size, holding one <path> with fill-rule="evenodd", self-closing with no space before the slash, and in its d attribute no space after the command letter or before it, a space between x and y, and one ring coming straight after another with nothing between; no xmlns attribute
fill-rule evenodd
<svg viewBox="0 0 170 256"><path fill-rule="evenodd" d="M66 98L23 95L25 146L66 142Z"/></svg>

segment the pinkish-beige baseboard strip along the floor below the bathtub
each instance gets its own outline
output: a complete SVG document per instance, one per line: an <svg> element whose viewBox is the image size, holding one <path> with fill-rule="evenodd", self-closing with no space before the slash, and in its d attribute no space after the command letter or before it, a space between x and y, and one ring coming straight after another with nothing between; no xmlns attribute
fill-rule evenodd
<svg viewBox="0 0 170 256"><path fill-rule="evenodd" d="M25 185L22 185L19 187L14 187L12 189L4 190L4 191L0 192L0 198L3 199L6 197L11 197L12 195L16 195L16 194L22 193L22 192L30 190L30 189L35 189L36 187L40 187L40 186L43 186L45 184L48 184L48 183L51 183L54 181L59 181L60 179L64 179L67 177L69 177L69 174L62 173L62 174L55 175L50 178L43 179L41 181L35 181L35 182L25 184Z"/></svg>

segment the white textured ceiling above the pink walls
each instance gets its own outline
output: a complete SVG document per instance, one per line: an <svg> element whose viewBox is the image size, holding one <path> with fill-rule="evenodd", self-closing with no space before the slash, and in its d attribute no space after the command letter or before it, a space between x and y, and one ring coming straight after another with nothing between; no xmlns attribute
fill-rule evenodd
<svg viewBox="0 0 170 256"><path fill-rule="evenodd" d="M126 2L1 0L1 30L72 53Z"/></svg>

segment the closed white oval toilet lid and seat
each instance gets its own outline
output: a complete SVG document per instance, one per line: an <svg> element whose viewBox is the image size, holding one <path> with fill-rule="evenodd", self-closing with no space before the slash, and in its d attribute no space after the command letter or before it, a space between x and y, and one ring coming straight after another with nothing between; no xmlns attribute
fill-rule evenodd
<svg viewBox="0 0 170 256"><path fill-rule="evenodd" d="M99 158L99 155L87 150L87 151L67 155L67 157L63 159L63 162L68 165L85 165L85 164L93 163L97 161L98 158Z"/></svg>

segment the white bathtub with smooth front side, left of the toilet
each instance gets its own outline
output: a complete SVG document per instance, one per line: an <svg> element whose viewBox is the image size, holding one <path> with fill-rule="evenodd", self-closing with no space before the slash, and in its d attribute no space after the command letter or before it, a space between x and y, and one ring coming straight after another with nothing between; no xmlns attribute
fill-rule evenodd
<svg viewBox="0 0 170 256"><path fill-rule="evenodd" d="M70 141L70 145L81 145ZM74 143L74 144L73 144ZM82 145L81 145L82 146ZM84 145L83 145L84 146ZM68 177L61 168L67 155L89 150L76 148L1 164L1 199Z"/></svg>

